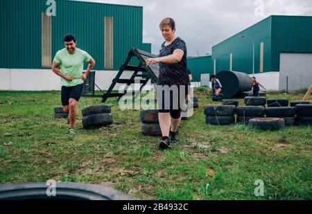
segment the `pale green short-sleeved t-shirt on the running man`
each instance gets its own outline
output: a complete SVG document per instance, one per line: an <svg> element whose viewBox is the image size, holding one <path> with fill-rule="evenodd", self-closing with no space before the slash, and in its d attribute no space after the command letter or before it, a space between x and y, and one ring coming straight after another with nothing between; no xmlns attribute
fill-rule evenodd
<svg viewBox="0 0 312 214"><path fill-rule="evenodd" d="M58 51L54 57L54 61L60 64L60 71L64 75L69 75L73 78L71 82L61 78L62 86L73 87L83 84L83 80L81 79L83 75L83 64L84 62L89 62L90 59L91 56L79 48L76 48L74 54L69 54L66 48Z"/></svg>

